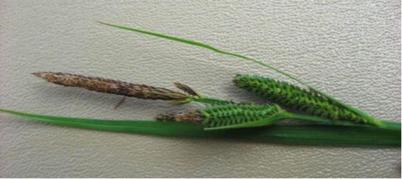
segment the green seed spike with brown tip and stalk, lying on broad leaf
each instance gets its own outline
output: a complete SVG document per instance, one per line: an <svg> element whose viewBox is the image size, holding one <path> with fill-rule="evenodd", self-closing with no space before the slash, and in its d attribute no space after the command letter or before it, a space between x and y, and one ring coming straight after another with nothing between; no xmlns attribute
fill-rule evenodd
<svg viewBox="0 0 402 179"><path fill-rule="evenodd" d="M256 126L267 126L286 119L308 120L313 122L325 122L333 125L342 126L364 126L376 127L373 124L356 123L350 120L328 120L327 118L288 113L281 109L277 104L236 104L221 103L206 106L204 109L181 111L179 113L169 113L157 115L155 120L191 122L204 125L206 130L216 129L237 129ZM401 126L387 125L389 129L401 129Z"/></svg>

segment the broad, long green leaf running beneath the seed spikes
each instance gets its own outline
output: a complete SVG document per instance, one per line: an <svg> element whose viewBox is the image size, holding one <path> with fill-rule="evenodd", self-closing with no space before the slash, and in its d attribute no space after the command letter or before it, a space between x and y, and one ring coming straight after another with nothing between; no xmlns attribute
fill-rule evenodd
<svg viewBox="0 0 402 179"><path fill-rule="evenodd" d="M191 138L221 138L285 144L340 145L356 147L401 147L401 129L380 129L359 126L277 125L253 129L205 131L197 124L158 122L150 120L94 120L76 117L35 115L0 109L30 120L74 126L83 129L168 135Z"/></svg>

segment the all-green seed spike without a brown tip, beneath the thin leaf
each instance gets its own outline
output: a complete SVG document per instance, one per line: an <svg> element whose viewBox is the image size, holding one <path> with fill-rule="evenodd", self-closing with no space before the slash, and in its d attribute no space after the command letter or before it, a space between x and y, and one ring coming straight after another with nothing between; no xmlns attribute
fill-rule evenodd
<svg viewBox="0 0 402 179"><path fill-rule="evenodd" d="M234 82L240 88L252 91L268 100L288 106L293 109L306 111L313 115L329 118L332 120L350 120L353 122L367 123L364 117L328 100L318 93L312 93L287 82L257 77L250 75L236 75ZM373 124L369 122L370 124Z"/></svg>

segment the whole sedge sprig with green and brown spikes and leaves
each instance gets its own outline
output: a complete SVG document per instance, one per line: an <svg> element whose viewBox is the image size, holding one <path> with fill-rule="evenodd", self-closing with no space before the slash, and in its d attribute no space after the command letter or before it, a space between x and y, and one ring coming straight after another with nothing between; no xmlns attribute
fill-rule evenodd
<svg viewBox="0 0 402 179"><path fill-rule="evenodd" d="M143 84L132 84L100 77L85 77L69 73L40 72L33 75L62 86L86 88L101 93L146 100L170 100L171 104L201 102L202 109L157 115L148 120L96 120L77 117L35 115L0 109L2 113L26 117L30 120L75 126L85 129L146 133L153 135L186 136L198 138L231 138L291 144L331 144L361 147L401 147L401 123L378 120L367 113L336 100L292 75L264 62L220 50L198 41L162 35L156 32L128 28L110 23L98 23L131 30L146 35L179 41L216 53L255 62L281 73L304 85L299 86L254 75L236 75L233 82L240 88L256 93L272 103L250 104L204 97L184 84L175 86L184 93ZM281 106L300 111L289 113ZM278 125L285 119L318 122L318 124Z"/></svg>

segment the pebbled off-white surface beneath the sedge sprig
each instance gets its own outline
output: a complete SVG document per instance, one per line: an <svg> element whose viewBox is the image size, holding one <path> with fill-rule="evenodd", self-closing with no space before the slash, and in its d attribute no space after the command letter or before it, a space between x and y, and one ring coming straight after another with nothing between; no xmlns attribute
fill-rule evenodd
<svg viewBox="0 0 402 179"><path fill-rule="evenodd" d="M381 119L401 122L401 1L0 1L0 108L152 119L180 110L46 84L55 71L256 100L236 73L270 70L91 18L206 42L268 62ZM258 101L258 100L257 100ZM261 100L259 100L261 102ZM166 138L0 114L0 178L401 178L401 149Z"/></svg>

